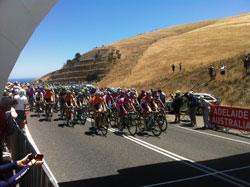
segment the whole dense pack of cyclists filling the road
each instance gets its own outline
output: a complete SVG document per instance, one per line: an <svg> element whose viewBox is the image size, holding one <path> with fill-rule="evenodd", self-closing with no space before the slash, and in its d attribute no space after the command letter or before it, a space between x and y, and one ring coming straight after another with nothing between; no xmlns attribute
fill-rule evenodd
<svg viewBox="0 0 250 187"><path fill-rule="evenodd" d="M151 89L148 91L122 88L95 88L94 86L64 85L55 86L49 84L31 83L8 83L4 95L15 98L16 95L24 95L28 103L25 108L34 111L37 115L45 114L46 120L50 121L53 113L60 112L60 118L72 122L85 111L92 113L94 125L102 118L101 113L116 111L116 126L123 130L125 128L124 117L128 113L141 114L143 129L148 130L147 117L149 113L157 112L162 116L165 113L166 96L161 90ZM86 113L85 113L86 114ZM77 116L78 115L78 116ZM86 114L87 115L87 114ZM86 118L86 117L85 117ZM86 119L84 123L86 122ZM166 122L167 123L167 122ZM103 125L103 120L100 124Z"/></svg>

